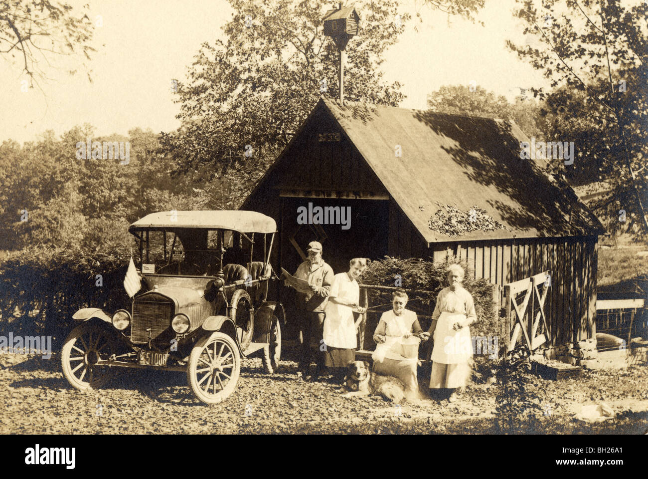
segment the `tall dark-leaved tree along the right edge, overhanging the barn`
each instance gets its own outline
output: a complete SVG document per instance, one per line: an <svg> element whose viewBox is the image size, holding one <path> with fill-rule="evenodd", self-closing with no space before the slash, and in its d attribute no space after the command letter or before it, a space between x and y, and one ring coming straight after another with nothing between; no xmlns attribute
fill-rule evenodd
<svg viewBox="0 0 648 479"><path fill-rule="evenodd" d="M646 234L648 3L517 1L528 44L508 45L559 87L546 103L551 140L575 141L573 167L599 170L608 194L590 206L599 217L619 218L612 230ZM542 89L533 93L546 97Z"/></svg>

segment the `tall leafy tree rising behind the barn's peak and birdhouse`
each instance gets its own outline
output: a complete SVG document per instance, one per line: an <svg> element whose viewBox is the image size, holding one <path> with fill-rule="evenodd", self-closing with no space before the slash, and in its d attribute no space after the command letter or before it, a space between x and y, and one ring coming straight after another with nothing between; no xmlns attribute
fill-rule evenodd
<svg viewBox="0 0 648 479"><path fill-rule="evenodd" d="M323 34L325 9L316 0L230 3L235 14L223 27L226 39L203 43L187 81L178 82L182 126L163 134L161 143L178 171L218 177L231 195L224 204L237 206L319 97L336 97L338 50ZM481 3L431 5L468 16ZM410 15L399 13L395 0L354 7L360 30L346 49L345 99L397 106L400 83L386 83L380 65Z"/></svg>

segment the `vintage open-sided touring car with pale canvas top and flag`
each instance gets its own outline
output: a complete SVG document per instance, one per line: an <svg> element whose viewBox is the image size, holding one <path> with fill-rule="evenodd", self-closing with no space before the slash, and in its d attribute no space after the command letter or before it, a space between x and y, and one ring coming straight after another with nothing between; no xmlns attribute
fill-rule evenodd
<svg viewBox="0 0 648 479"><path fill-rule="evenodd" d="M146 215L128 231L139 245L141 289L130 310L83 308L62 350L77 389L104 386L119 367L186 371L194 395L214 404L235 389L241 359L260 354L266 373L281 356L283 306L268 301L276 278L270 252L277 225L250 211ZM133 289L135 289L133 288Z"/></svg>

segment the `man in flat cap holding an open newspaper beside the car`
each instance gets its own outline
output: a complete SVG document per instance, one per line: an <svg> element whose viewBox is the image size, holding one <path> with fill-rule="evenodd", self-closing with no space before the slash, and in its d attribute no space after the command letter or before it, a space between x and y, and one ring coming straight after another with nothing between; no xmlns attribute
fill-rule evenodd
<svg viewBox="0 0 648 479"><path fill-rule="evenodd" d="M315 374L311 380L317 380L323 367L323 354L319 347L323 336L324 308L328 301L330 286L333 281L333 270L322 259L322 245L319 241L308 243L308 259L297 267L295 277L307 280L312 292L300 293L297 291L297 308L303 342L301 344L301 359L299 372L307 375L308 367L313 359L311 343L316 345Z"/></svg>

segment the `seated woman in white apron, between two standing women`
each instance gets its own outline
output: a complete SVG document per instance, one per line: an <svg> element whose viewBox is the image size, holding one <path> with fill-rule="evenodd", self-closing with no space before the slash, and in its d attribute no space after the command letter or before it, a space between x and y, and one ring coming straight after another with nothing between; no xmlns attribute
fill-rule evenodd
<svg viewBox="0 0 648 479"><path fill-rule="evenodd" d="M373 371L382 375L396 376L407 387L408 397L415 397L419 390L417 380L417 359L405 358L400 354L400 341L403 338L419 336L422 332L416 313L406 310L408 295L405 291L394 291L391 300L393 309L382 313L380 322L373 334L376 350L373 358Z"/></svg>

